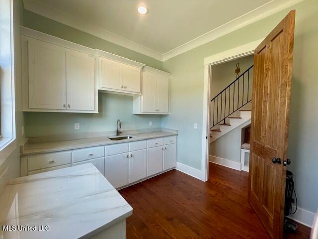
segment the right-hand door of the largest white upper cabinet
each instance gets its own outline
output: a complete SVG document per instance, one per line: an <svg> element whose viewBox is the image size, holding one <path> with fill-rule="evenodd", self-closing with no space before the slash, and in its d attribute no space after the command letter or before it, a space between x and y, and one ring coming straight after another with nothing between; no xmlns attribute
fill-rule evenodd
<svg viewBox="0 0 318 239"><path fill-rule="evenodd" d="M95 58L66 51L66 96L68 110L95 109Z"/></svg>

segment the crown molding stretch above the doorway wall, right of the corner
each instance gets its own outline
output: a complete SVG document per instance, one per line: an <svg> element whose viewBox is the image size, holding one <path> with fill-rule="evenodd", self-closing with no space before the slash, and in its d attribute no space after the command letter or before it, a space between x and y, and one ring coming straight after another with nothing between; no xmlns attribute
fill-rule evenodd
<svg viewBox="0 0 318 239"><path fill-rule="evenodd" d="M180 55L186 51L193 48L201 46L205 43L213 41L221 36L224 36L232 31L238 30L244 26L247 26L255 21L261 20L269 15L272 15L278 11L281 11L287 7L295 5L303 0L286 0L286 1L276 1L271 0L254 10L251 10L221 26L214 28L213 30L204 33L170 51L162 54L162 61L166 61L174 56Z"/></svg>

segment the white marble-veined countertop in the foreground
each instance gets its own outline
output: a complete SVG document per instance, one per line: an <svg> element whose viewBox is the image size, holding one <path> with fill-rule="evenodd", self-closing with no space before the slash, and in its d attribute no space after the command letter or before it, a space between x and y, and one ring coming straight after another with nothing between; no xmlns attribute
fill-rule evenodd
<svg viewBox="0 0 318 239"><path fill-rule="evenodd" d="M49 226L4 239L89 238L132 215L132 207L91 164L20 177L0 195L0 225Z"/></svg>

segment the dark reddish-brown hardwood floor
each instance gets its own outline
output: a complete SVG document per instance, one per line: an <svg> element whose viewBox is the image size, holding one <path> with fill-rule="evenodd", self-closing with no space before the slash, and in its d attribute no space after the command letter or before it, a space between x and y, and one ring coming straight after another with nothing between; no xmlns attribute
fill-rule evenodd
<svg viewBox="0 0 318 239"><path fill-rule="evenodd" d="M177 170L120 190L133 207L127 239L270 239L247 202L248 174L210 163L209 181ZM308 239L300 225L287 239Z"/></svg>

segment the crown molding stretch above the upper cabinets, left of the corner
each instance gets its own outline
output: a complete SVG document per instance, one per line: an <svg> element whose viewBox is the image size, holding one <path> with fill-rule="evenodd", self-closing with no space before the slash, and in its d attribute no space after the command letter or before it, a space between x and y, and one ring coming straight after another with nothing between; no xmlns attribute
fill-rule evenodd
<svg viewBox="0 0 318 239"><path fill-rule="evenodd" d="M130 50L142 53L146 56L150 56L156 60L162 61L162 54L149 49L145 46L142 46L134 41L128 40L122 36L119 36L113 32L107 31L96 25L87 23L86 21L81 20L78 17L67 14L63 11L60 11L52 6L46 5L37 0L23 0L25 9L40 14L42 16L48 17L55 21L61 22L68 26L74 27L81 31L87 32L94 36L100 37L104 40L110 41L117 45L126 47Z"/></svg>

